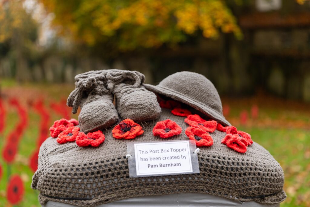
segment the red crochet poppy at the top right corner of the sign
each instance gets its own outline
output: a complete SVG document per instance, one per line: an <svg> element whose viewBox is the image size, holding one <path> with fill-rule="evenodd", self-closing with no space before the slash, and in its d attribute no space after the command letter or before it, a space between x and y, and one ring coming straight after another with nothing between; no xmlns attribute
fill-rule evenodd
<svg viewBox="0 0 310 207"><path fill-rule="evenodd" d="M190 140L195 140L196 146L212 146L213 139L209 133L201 128L188 127L185 130L186 136Z"/></svg>

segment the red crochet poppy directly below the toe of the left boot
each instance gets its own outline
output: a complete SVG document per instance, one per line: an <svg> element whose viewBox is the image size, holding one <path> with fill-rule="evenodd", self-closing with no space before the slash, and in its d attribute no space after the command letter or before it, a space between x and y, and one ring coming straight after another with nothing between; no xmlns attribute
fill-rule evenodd
<svg viewBox="0 0 310 207"><path fill-rule="evenodd" d="M83 132L78 134L76 139L78 146L99 146L102 142L104 142L104 134L102 131L98 130L97 132L90 132L87 135Z"/></svg>

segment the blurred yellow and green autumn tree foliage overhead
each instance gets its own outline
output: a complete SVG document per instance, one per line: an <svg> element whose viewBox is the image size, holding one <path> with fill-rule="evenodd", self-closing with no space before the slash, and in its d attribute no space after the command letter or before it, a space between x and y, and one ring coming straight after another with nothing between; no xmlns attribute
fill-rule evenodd
<svg viewBox="0 0 310 207"><path fill-rule="evenodd" d="M222 0L40 1L55 14L60 34L121 51L174 45L200 32L206 38L217 38L220 31L242 35Z"/></svg>

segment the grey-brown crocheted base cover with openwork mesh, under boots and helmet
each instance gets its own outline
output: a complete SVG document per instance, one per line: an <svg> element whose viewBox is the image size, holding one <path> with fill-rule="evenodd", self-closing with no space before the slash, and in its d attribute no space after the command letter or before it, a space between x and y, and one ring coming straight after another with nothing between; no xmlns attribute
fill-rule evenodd
<svg viewBox="0 0 310 207"><path fill-rule="evenodd" d="M206 193L261 204L277 204L286 198L283 171L267 150L254 142L246 153L238 153L221 144L225 133L217 130L210 133L214 144L200 147L200 173L129 178L126 144L162 141L152 130L157 121L166 119L175 121L182 133L165 140L188 140L184 117L172 115L168 109L162 109L155 121L140 122L144 134L132 140L113 138L113 127L103 131L105 141L97 148L79 147L75 142L58 144L48 138L40 147L38 170L32 180L32 188L40 191L40 203L53 200L86 207L173 193Z"/></svg>

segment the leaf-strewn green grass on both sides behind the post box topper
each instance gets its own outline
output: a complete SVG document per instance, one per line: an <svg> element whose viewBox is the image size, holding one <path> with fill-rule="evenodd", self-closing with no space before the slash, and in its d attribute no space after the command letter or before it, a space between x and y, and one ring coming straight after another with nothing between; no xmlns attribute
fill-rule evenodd
<svg viewBox="0 0 310 207"><path fill-rule="evenodd" d="M3 86L3 85L2 85ZM14 88L16 86L14 82L7 81L2 88ZM21 90L35 89L45 94L45 97L50 97L52 100L59 100L60 97L66 97L72 90L72 86L66 87L64 85L31 85L26 84L22 86ZM41 88L45 88L44 90ZM48 102L49 100L47 100ZM23 103L26 105L25 103ZM238 115L241 110L247 109L249 111L250 106L247 103L238 103L238 106L231 105L231 113L228 120L238 119ZM281 109L270 108L270 106L260 106L260 119L266 117L272 119L272 122L277 122L278 119L287 119L292 123L294 121L309 122L307 118L308 111L300 111L298 109ZM289 113L287 113L289 112ZM51 113L51 121L60 119L59 115ZM74 117L76 118L76 116ZM0 135L0 149L2 153L2 146L6 135L13 130L18 117L13 109L9 109L7 114L7 126L3 135ZM33 110L29 110L29 125L21 139L18 151L17 161L10 167L10 171L13 174L19 174L25 185L24 199L19 207L34 207L40 206L38 203L38 191L34 191L30 188L31 178L33 172L28 167L27 160L35 149L35 142L38 137L38 125L40 123L39 115ZM235 124L235 123L232 123ZM238 130L246 131L251 134L252 139L265 147L281 164L285 173L285 186L284 189L288 195L285 202L281 204L281 207L288 206L310 206L310 131L309 129L298 128L294 125L291 128L278 127L274 128L271 125L263 127L256 127L255 122L252 122L250 126L238 126L235 124ZM0 158L0 164L3 168L3 175L0 180L0 206L9 206L5 195L8 179L8 166Z"/></svg>

